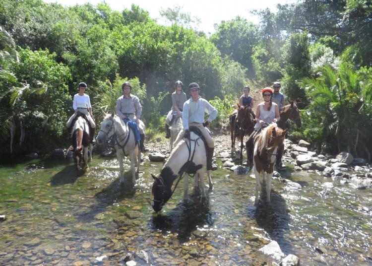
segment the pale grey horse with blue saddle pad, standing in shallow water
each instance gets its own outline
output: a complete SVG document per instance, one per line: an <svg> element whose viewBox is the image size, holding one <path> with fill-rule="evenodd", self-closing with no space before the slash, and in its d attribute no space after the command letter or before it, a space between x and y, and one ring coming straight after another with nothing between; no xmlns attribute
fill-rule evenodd
<svg viewBox="0 0 372 266"><path fill-rule="evenodd" d="M144 127L142 121L139 122L139 127ZM138 143L135 139L135 135L132 129L124 123L119 116L114 113L106 114L102 123L100 132L97 135L97 142L103 143L113 139L114 146L116 149L116 156L118 157L120 165L120 184L124 184L124 167L123 159L124 156L130 156L130 171L132 173L132 184L136 184L135 179L135 166L137 166L137 172L140 171L139 162L141 161L141 151L139 150Z"/></svg>

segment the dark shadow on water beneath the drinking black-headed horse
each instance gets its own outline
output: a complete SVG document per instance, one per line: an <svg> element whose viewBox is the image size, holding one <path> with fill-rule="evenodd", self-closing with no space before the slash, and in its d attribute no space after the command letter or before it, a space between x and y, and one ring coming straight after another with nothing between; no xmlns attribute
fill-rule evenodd
<svg viewBox="0 0 372 266"><path fill-rule="evenodd" d="M163 234L177 233L178 240L183 243L189 240L191 232L204 225L213 225L209 197L202 199L193 192L186 202L180 202L167 213L154 214L151 227L161 230Z"/></svg>

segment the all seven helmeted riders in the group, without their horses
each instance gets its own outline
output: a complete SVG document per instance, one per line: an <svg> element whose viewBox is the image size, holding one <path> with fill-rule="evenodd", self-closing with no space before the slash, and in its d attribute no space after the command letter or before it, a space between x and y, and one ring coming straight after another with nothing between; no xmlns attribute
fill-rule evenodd
<svg viewBox="0 0 372 266"><path fill-rule="evenodd" d="M66 123L67 128L73 125L73 121L78 115L85 116L90 126L90 142L95 143L95 122L92 115L92 106L90 104L89 95L85 94L87 90L85 82L80 82L78 85L79 92L73 97L73 109L75 113L69 118ZM129 82L124 82L122 85L123 95L117 100L116 112L119 117L134 131L136 140L139 143L141 152L145 152L144 139L145 132L143 128L138 127L139 119L142 114L142 106L139 98L131 94L132 86ZM240 106L249 106L253 118L256 118L254 126L255 132L259 131L265 124L277 122L280 119L279 109L284 106L284 95L279 91L280 82L274 82L273 89L264 88L262 90L263 102L258 104L256 113L253 112L253 99L249 95L250 88L244 87L244 94L239 98ZM175 145L182 138L190 138L189 127L194 126L202 133L207 148L207 169L216 170L217 165L213 163L214 140L207 126L218 115L214 108L207 100L199 96L200 87L197 83L191 82L188 85L190 98L186 99L186 93L183 91L183 83L178 80L175 83L175 91L172 93L172 109L169 111L166 118L166 137L170 137L169 126L174 115L182 117L183 130L178 134ZM205 113L209 115L207 120L204 120ZM253 134L252 134L253 135ZM77 150L81 149L81 141L77 143Z"/></svg>

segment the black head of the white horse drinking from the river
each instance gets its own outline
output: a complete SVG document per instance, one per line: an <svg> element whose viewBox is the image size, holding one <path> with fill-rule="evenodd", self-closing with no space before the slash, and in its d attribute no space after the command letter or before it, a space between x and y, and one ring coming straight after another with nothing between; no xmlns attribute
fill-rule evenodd
<svg viewBox="0 0 372 266"><path fill-rule="evenodd" d="M158 212L172 196L172 183L167 184L161 176L156 177L153 174L151 176L154 179L151 189L151 195L154 197L152 208Z"/></svg>

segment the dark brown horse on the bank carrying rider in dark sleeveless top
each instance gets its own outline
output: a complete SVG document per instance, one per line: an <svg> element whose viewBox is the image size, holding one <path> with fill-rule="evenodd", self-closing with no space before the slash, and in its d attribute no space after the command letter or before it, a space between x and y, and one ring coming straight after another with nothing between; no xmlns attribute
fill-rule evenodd
<svg viewBox="0 0 372 266"><path fill-rule="evenodd" d="M239 109L230 115L231 155L235 152L235 140L240 139L240 159L243 159L243 138L254 130L253 116L249 106L239 106Z"/></svg>

